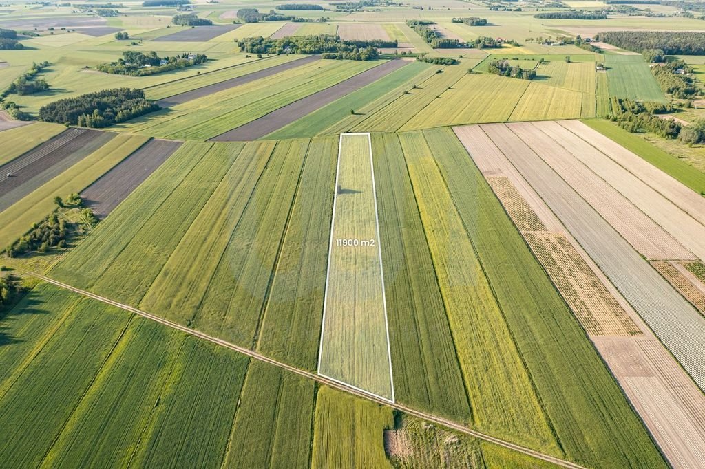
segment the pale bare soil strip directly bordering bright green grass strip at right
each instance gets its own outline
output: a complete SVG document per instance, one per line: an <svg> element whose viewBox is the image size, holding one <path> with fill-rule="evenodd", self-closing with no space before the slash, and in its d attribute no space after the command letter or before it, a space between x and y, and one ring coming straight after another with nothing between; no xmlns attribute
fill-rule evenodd
<svg viewBox="0 0 705 469"><path fill-rule="evenodd" d="M693 192L688 187L682 185L681 182L673 179L673 177L659 170L648 161L645 161L644 158L633 154L631 151L625 149L625 147L613 142L591 127L584 125L579 120L563 120L559 124L584 139L586 142L589 142L596 149L615 161L615 163L629 170L630 173L646 182L646 184L656 189L656 191L663 194L663 196L666 196L673 204L680 207L700 223L705 224L705 198L703 198L703 196ZM562 135L568 136L566 134Z"/></svg>

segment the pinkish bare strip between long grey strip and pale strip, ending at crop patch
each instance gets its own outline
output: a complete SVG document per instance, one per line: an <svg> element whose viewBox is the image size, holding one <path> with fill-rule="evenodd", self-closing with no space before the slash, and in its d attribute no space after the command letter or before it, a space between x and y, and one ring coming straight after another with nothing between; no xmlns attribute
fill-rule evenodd
<svg viewBox="0 0 705 469"><path fill-rule="evenodd" d="M610 223L640 254L650 259L692 258L666 230L644 215L625 196L583 165L563 146L571 142L551 139L532 123L508 127L531 146L594 210ZM580 139L574 139L580 140Z"/></svg>

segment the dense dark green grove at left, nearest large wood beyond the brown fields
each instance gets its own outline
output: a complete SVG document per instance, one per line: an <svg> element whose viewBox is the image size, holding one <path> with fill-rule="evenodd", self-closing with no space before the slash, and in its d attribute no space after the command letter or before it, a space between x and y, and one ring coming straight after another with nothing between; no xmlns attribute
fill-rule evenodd
<svg viewBox="0 0 705 469"><path fill-rule="evenodd" d="M59 99L39 108L39 119L66 125L107 127L157 111L142 89L115 88Z"/></svg>

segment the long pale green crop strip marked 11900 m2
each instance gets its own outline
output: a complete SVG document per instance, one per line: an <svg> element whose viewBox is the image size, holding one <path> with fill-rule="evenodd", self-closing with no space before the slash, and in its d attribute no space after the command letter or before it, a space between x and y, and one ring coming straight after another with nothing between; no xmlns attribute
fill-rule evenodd
<svg viewBox="0 0 705 469"><path fill-rule="evenodd" d="M372 140L341 134L318 373L394 401Z"/></svg>

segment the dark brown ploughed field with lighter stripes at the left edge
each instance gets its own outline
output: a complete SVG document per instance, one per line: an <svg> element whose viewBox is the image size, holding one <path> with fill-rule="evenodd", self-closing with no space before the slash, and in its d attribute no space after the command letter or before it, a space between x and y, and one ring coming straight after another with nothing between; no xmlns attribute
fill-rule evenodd
<svg viewBox="0 0 705 469"><path fill-rule="evenodd" d="M117 134L69 129L0 166L0 211L99 149ZM7 177L11 174L11 177Z"/></svg>

